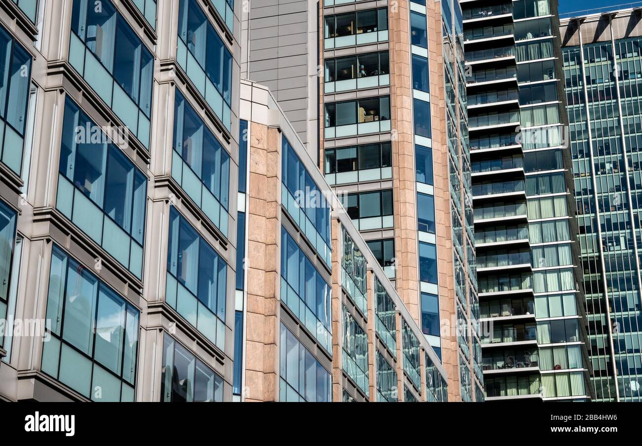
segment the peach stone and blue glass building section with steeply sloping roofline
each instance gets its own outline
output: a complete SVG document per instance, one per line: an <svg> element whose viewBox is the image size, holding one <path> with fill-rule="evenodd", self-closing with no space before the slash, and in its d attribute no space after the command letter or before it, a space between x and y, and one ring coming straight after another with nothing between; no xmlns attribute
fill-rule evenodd
<svg viewBox="0 0 642 446"><path fill-rule="evenodd" d="M445 368L285 115L266 87L241 81L247 260L237 310L247 323L235 393L446 400Z"/></svg>

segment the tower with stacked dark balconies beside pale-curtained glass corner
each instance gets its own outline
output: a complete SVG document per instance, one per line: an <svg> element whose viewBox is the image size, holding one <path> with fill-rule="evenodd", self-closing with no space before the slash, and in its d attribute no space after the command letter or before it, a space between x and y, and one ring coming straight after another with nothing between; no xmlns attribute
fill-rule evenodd
<svg viewBox="0 0 642 446"><path fill-rule="evenodd" d="M462 6L487 400L586 400L557 1Z"/></svg>

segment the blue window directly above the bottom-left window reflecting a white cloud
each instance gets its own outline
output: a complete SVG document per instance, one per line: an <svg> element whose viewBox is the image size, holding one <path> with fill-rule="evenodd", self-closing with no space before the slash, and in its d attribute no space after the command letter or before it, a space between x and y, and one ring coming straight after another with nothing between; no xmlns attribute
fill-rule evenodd
<svg viewBox="0 0 642 446"><path fill-rule="evenodd" d="M143 274L147 177L69 98L56 208L130 271Z"/></svg>

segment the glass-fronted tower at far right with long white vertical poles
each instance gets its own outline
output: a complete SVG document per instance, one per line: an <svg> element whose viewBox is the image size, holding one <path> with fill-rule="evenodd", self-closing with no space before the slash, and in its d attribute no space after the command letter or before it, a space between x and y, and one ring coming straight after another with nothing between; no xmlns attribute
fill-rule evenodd
<svg viewBox="0 0 642 446"><path fill-rule="evenodd" d="M640 8L560 22L597 401L642 400Z"/></svg>

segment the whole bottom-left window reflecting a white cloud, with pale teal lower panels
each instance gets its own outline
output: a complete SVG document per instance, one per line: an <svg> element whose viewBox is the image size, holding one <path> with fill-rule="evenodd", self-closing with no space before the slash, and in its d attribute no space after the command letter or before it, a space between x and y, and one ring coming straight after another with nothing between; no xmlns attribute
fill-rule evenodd
<svg viewBox="0 0 642 446"><path fill-rule="evenodd" d="M139 310L55 245L49 274L42 371L94 401L134 401Z"/></svg>

